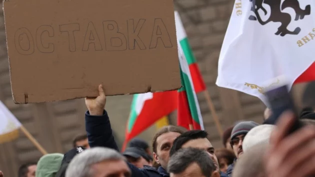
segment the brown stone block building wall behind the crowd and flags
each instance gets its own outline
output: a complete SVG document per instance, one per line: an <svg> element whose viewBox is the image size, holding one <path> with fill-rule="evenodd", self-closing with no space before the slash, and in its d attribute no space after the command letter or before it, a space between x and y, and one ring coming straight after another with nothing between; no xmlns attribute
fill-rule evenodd
<svg viewBox="0 0 315 177"><path fill-rule="evenodd" d="M234 0L174 0L175 10L183 25L201 74L211 95L223 128L238 120L262 122L265 106L250 95L215 85L217 61ZM48 153L64 153L71 149L72 139L84 132L84 99L15 105L12 101L3 11L0 8L0 100L19 119ZM126 120L132 95L107 98L106 110L110 117L116 141L124 140ZM209 112L203 94L198 94L205 130L215 148L221 147L220 136ZM170 116L175 124L175 116ZM152 126L139 137L150 141L155 132ZM6 177L17 176L17 169L25 162L37 161L41 154L22 134L10 143L0 145L0 170Z"/></svg>

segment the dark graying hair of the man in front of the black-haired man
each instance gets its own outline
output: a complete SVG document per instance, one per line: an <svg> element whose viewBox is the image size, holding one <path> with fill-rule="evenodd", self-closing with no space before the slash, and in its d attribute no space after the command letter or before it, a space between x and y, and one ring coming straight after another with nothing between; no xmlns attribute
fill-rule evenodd
<svg viewBox="0 0 315 177"><path fill-rule="evenodd" d="M215 166L210 156L203 150L183 148L173 154L168 162L168 173L180 174L191 164L196 163L205 177L211 177Z"/></svg>

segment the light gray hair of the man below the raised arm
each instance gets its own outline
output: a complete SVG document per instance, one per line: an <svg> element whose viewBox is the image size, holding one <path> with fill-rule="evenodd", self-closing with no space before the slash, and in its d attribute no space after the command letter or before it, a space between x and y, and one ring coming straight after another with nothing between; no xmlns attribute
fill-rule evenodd
<svg viewBox="0 0 315 177"><path fill-rule="evenodd" d="M109 148L92 148L76 155L70 162L65 177L92 177L91 166L102 161L125 160L117 151Z"/></svg>

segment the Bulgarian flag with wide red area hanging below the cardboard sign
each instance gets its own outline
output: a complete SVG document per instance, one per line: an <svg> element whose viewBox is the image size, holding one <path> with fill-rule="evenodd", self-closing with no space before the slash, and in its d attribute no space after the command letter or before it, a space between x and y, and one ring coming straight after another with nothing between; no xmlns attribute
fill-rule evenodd
<svg viewBox="0 0 315 177"><path fill-rule="evenodd" d="M177 109L177 91L135 94L131 103L131 111L127 122L125 141L128 141L153 125L157 120Z"/></svg>

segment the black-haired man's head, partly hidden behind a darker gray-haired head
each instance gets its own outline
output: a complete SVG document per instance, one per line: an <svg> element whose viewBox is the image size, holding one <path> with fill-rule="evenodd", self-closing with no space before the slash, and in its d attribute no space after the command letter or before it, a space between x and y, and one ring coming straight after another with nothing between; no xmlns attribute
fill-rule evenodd
<svg viewBox="0 0 315 177"><path fill-rule="evenodd" d="M169 156L171 157L181 148L197 148L208 152L214 166L219 170L218 161L214 155L214 148L207 139L207 136L208 134L203 130L191 130L181 134L174 140L173 146L169 151Z"/></svg>

